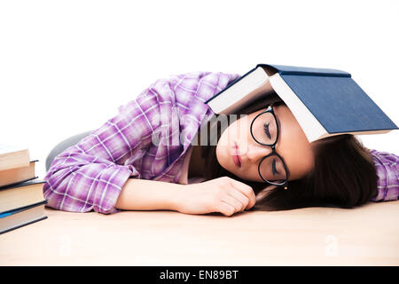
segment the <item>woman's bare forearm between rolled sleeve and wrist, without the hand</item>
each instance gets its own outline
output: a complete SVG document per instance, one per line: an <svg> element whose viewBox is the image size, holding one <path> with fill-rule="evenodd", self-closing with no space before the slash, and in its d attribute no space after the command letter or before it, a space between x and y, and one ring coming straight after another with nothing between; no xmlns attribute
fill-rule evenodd
<svg viewBox="0 0 399 284"><path fill-rule="evenodd" d="M116 201L117 209L125 210L176 210L176 196L184 185L129 178Z"/></svg>

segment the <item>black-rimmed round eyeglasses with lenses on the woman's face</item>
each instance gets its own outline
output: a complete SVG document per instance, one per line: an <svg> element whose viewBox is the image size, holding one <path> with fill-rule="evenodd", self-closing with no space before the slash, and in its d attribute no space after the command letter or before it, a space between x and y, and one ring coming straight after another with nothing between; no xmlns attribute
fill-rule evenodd
<svg viewBox="0 0 399 284"><path fill-rule="evenodd" d="M250 130L252 138L258 144L270 146L272 151L259 162L259 176L270 185L284 186L287 189L289 172L286 168L286 162L275 149L278 142L279 128L272 106L269 106L264 112L254 117Z"/></svg>

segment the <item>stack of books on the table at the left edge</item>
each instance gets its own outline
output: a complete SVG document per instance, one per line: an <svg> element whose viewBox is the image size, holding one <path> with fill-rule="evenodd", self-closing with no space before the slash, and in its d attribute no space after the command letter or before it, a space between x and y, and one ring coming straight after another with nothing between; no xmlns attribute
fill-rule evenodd
<svg viewBox="0 0 399 284"><path fill-rule="evenodd" d="M0 145L0 234L47 218L36 162L27 148Z"/></svg>

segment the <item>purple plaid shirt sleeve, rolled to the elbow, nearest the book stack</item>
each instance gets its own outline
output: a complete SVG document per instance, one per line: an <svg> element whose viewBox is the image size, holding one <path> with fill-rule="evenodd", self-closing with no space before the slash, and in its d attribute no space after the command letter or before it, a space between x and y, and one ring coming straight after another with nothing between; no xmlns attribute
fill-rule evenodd
<svg viewBox="0 0 399 284"><path fill-rule="evenodd" d="M129 177L140 178L132 162L145 154L158 127L156 98L143 91L120 106L98 130L56 156L44 177L43 195L54 209L118 212L116 201Z"/></svg>

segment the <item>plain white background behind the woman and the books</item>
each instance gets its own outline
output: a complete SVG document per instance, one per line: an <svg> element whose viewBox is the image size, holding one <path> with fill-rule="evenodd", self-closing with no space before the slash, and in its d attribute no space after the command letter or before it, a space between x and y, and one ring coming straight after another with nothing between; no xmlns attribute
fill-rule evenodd
<svg viewBox="0 0 399 284"><path fill-rule="evenodd" d="M258 63L347 71L399 125L398 30L395 0L0 0L0 143L43 177L53 146L157 79ZM398 130L361 139L399 154Z"/></svg>

